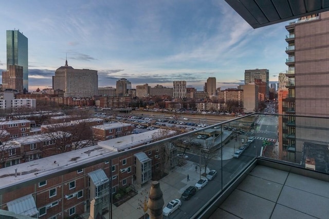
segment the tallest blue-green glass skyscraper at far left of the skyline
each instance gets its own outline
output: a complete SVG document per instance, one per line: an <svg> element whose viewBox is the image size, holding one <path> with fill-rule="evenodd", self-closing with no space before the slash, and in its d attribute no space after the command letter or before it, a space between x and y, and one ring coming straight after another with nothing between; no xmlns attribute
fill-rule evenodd
<svg viewBox="0 0 329 219"><path fill-rule="evenodd" d="M7 30L7 70L9 65L23 67L23 89L28 91L28 40L19 30Z"/></svg>

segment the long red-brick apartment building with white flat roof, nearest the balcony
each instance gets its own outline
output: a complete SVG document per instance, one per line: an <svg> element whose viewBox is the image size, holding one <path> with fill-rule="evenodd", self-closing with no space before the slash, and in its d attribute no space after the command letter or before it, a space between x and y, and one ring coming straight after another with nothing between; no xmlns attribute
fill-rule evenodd
<svg viewBox="0 0 329 219"><path fill-rule="evenodd" d="M113 139L101 142L99 146L91 146L63 154L41 158L15 167L7 167L8 173L2 178L3 185L25 181L35 175L49 173L54 168L65 168L71 165L81 165L95 158L103 157L97 164L80 168L76 171L41 180L37 184L28 185L13 192L0 196L3 203L1 209L13 211L26 216L46 218L67 218L88 213L90 202L96 197L100 200L100 208L108 211L108 182L111 180L113 203L117 202L116 194L119 188L128 188L132 184L144 184L151 180L153 174L159 172L162 166L177 164L169 161L163 147L171 151L170 158L177 160L177 149L166 145L141 149L139 152L129 152L131 148L148 144L158 136L153 130L149 133L135 134L131 137ZM171 131L171 134L174 134ZM166 135L167 136L167 135ZM165 136L162 136L165 137ZM148 142L146 142L148 141ZM122 142L122 143L121 143ZM128 144L130 142L130 144ZM117 144L114 144L117 143ZM118 152L124 152L122 155ZM111 163L105 157L117 155ZM31 166L34 166L31 171ZM170 167L169 167L170 168ZM167 170L169 171L169 170ZM17 208L20 206L20 208Z"/></svg>

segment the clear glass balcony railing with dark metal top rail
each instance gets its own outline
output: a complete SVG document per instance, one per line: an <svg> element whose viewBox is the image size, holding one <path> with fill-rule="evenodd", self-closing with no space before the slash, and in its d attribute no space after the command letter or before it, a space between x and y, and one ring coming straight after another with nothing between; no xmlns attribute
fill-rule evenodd
<svg viewBox="0 0 329 219"><path fill-rule="evenodd" d="M258 157L328 173L328 161L321 159L329 156L328 118L294 116L293 122L280 124L286 115L254 113L228 121L210 114L184 115L188 121L159 116L161 124L149 124L154 130L136 128L141 133L0 169L1 208L12 211L24 197L32 206L29 216L88 218L93 202L100 201L99 213L105 218L122 218L124 212L137 218L144 211L136 200L147 202L150 182L158 181L165 205L175 198L190 199L172 216L194 218ZM288 133L280 133L286 125ZM142 166L150 171L142 173ZM203 184L200 178L208 181ZM111 188L111 194L99 198L95 188L101 189L106 180L104 188ZM200 190L181 196L190 186Z"/></svg>

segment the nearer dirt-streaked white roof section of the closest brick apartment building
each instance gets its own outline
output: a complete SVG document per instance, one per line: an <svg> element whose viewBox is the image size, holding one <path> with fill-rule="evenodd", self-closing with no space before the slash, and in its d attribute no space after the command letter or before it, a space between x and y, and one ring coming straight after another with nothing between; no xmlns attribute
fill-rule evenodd
<svg viewBox="0 0 329 219"><path fill-rule="evenodd" d="M0 169L0 189L31 180L35 176L42 176L56 172L56 170L82 165L112 153L115 154L117 152L96 145L2 168ZM17 169L16 177L15 169Z"/></svg>

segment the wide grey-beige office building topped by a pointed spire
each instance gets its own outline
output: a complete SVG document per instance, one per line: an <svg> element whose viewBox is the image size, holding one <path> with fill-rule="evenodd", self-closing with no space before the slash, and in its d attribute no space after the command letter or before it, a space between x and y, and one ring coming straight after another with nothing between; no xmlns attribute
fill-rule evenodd
<svg viewBox="0 0 329 219"><path fill-rule="evenodd" d="M98 95L98 74L95 70L59 67L53 77L53 89L64 91L64 97L92 98Z"/></svg>

